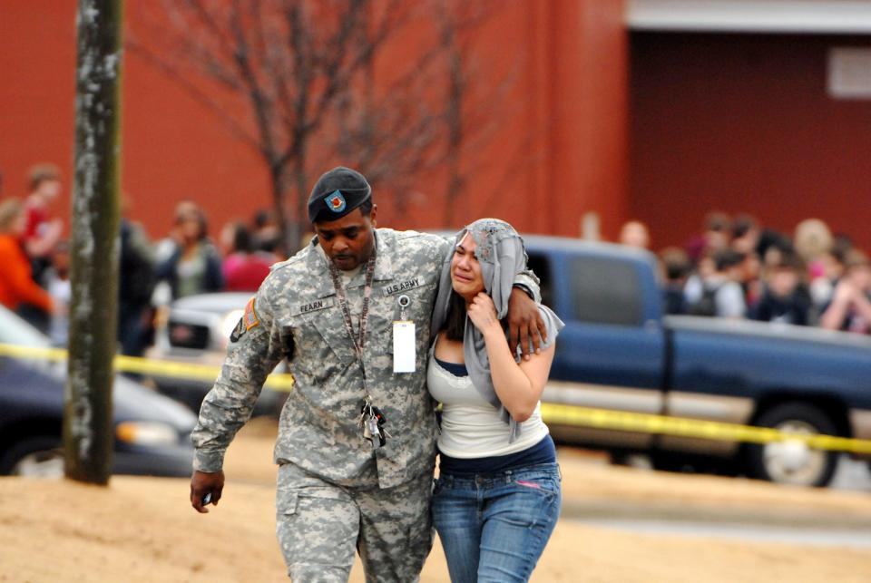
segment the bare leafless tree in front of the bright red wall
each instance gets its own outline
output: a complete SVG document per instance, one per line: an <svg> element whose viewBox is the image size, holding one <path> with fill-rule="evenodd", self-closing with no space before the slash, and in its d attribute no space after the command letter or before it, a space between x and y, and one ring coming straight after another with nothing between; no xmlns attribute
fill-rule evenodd
<svg viewBox="0 0 871 583"><path fill-rule="evenodd" d="M132 52L180 83L231 135L259 152L291 246L308 227L313 168L341 155L373 183L396 187L396 202L405 205L402 193L416 177L447 167L448 196L457 196L475 168L466 158L469 143L494 135L494 107L470 101L478 78L463 41L494 14L500 5L494 0L162 5L160 33L149 35L158 40L134 45ZM432 34L432 42L385 71L379 55L410 24L425 31L424 39ZM206 89L210 85L214 92ZM504 92L494 93L502 98Z"/></svg>

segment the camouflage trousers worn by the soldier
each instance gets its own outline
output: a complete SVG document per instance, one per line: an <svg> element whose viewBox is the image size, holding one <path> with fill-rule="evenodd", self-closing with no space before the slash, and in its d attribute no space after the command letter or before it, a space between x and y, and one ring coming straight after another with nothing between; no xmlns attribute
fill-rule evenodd
<svg viewBox="0 0 871 583"><path fill-rule="evenodd" d="M360 553L367 582L418 580L433 543L428 473L394 488L346 487L279 466L276 530L296 583L346 582Z"/></svg>

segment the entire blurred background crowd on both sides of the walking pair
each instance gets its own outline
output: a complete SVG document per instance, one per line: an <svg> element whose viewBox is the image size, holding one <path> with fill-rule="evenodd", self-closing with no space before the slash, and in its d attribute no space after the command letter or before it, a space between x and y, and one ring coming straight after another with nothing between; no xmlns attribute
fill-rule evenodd
<svg viewBox="0 0 871 583"><path fill-rule="evenodd" d="M54 204L63 188L54 165L29 173L23 198L0 199L0 304L67 342L70 248ZM211 238L204 211L191 200L175 208L172 227L153 243L122 208L118 339L122 354L142 355L152 341L154 309L213 291L255 291L276 261L288 257L274 211L233 220ZM637 220L620 242L650 248ZM871 261L819 219L791 235L749 215L712 212L683 248L663 248L663 302L668 314L749 318L871 333Z"/></svg>

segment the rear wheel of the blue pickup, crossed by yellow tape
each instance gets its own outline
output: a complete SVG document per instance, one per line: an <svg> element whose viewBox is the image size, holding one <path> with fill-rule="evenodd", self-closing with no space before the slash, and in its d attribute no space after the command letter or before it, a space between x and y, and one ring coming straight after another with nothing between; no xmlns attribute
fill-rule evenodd
<svg viewBox="0 0 871 583"><path fill-rule="evenodd" d="M835 435L835 423L817 407L805 403L782 403L759 416L759 427L804 435ZM803 442L756 444L747 449L752 478L798 486L826 486L837 465L837 452L814 450Z"/></svg>

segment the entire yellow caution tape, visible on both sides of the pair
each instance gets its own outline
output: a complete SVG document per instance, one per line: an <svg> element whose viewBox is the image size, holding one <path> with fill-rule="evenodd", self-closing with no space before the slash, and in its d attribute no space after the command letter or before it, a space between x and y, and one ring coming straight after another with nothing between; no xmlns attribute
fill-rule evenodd
<svg viewBox="0 0 871 583"><path fill-rule="evenodd" d="M31 360L66 360L62 348L34 348L31 346L0 344L0 356ZM152 360L133 356L115 356L115 369L128 373L153 374L171 378L214 381L220 373L216 366L188 364L176 361ZM270 374L266 386L275 391L289 391L293 377L289 374ZM858 440L835 435L779 432L768 427L754 427L733 423L719 423L667 417L650 413L631 413L592 409L558 403L542 403L542 417L546 423L607 429L612 431L642 432L674 435L726 442L771 443L798 441L817 450L871 453L871 440Z"/></svg>

